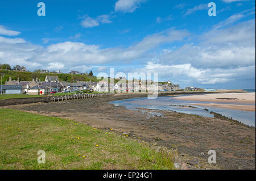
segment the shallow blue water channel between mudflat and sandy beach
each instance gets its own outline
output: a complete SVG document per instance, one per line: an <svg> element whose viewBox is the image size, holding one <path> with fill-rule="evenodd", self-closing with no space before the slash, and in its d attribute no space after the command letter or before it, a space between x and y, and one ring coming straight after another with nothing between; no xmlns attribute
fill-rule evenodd
<svg viewBox="0 0 256 181"><path fill-rule="evenodd" d="M195 106L193 103L212 103L190 100L173 99L171 96L159 96L156 99L147 98L132 98L125 100L114 100L115 106L125 106L129 110L135 110L136 108L147 108L156 110L176 111L182 113L188 113L193 115L213 117L210 111L220 113L221 115L232 117L235 120L241 121L247 125L253 125L255 127L255 111L241 111L228 108L207 107L207 106ZM216 103L216 102L214 102ZM237 104L237 103L236 103ZM187 106L187 107L181 107ZM188 107L192 106L192 107ZM207 108L209 111L205 111Z"/></svg>

